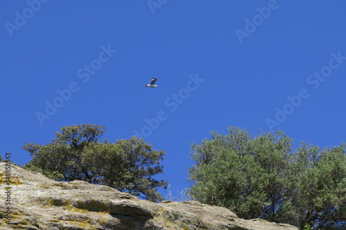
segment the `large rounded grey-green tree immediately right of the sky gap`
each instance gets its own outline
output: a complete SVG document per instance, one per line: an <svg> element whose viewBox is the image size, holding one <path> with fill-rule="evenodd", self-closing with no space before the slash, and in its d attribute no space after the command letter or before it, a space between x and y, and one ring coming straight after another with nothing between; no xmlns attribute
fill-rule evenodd
<svg viewBox="0 0 346 230"><path fill-rule="evenodd" d="M200 202L226 207L242 218L255 218L266 204L264 169L255 162L251 137L229 127L228 135L212 132L209 140L192 144L189 194Z"/></svg>

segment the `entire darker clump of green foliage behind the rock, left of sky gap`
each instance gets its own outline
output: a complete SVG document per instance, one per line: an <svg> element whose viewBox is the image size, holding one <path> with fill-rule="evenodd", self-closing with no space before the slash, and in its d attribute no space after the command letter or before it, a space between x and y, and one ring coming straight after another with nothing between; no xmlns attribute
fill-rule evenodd
<svg viewBox="0 0 346 230"><path fill-rule="evenodd" d="M106 131L104 126L82 124L60 129L51 143L23 146L33 155L26 169L54 180L84 180L154 202L163 200L157 187L167 182L152 178L163 173L163 166L159 165L165 155L163 151L153 151L150 144L137 137L116 143L100 142Z"/></svg>

